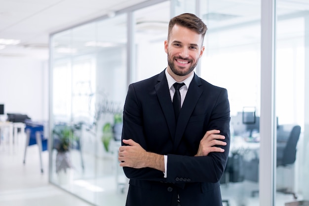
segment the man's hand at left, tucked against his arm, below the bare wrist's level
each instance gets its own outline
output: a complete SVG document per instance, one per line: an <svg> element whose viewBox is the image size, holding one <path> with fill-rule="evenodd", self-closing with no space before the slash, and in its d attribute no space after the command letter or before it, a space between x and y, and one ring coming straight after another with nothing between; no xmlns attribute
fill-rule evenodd
<svg viewBox="0 0 309 206"><path fill-rule="evenodd" d="M147 152L143 147L132 139L123 139L127 146L120 146L118 160L120 167L144 168Z"/></svg>

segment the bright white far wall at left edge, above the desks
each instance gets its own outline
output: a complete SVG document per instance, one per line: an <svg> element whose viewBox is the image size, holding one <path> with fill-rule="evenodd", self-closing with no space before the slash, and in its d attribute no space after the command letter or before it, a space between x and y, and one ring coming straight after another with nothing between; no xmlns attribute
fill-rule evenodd
<svg viewBox="0 0 309 206"><path fill-rule="evenodd" d="M48 62L0 57L0 103L5 113L48 120Z"/></svg>

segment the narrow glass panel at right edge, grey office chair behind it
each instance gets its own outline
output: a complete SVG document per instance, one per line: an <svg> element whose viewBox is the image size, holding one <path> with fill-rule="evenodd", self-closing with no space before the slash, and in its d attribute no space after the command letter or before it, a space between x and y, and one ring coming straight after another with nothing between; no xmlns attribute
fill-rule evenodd
<svg viewBox="0 0 309 206"><path fill-rule="evenodd" d="M309 204L309 2L276 0L276 206Z"/></svg>

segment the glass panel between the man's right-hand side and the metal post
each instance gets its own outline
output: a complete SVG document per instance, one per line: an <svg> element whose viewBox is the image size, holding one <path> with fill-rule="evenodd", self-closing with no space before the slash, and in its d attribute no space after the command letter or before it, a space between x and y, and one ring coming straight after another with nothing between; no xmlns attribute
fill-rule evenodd
<svg viewBox="0 0 309 206"><path fill-rule="evenodd" d="M200 3L208 28L200 75L228 90L231 107L230 155L220 180L223 202L258 206L261 2Z"/></svg>

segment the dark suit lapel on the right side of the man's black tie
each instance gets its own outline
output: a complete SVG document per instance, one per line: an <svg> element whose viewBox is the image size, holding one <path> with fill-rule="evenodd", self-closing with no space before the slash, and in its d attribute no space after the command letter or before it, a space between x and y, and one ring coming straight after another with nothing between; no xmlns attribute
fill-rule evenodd
<svg viewBox="0 0 309 206"><path fill-rule="evenodd" d="M178 145L186 130L186 126L191 117L193 109L199 97L203 93L203 90L200 88L200 85L201 85L201 81L199 77L194 73L194 77L190 83L190 87L187 92L185 101L180 110L179 119L178 119L177 128L176 128L175 140L174 140L174 147L173 147L174 152L177 151Z"/></svg>

